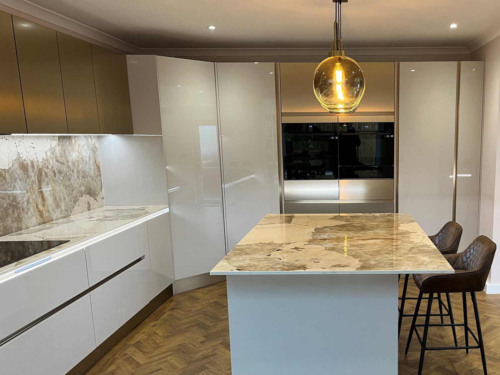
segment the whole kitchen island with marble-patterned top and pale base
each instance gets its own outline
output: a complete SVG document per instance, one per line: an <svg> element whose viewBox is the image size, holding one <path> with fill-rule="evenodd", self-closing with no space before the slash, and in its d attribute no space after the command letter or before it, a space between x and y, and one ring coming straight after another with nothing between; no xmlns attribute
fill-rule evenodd
<svg viewBox="0 0 500 375"><path fill-rule="evenodd" d="M227 277L231 369L397 374L399 273L453 273L409 214L268 214Z"/></svg>

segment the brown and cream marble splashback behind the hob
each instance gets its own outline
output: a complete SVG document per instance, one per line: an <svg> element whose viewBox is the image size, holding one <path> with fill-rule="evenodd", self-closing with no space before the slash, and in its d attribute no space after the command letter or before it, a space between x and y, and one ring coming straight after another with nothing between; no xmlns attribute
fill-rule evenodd
<svg viewBox="0 0 500 375"><path fill-rule="evenodd" d="M0 136L0 236L103 205L96 136Z"/></svg>

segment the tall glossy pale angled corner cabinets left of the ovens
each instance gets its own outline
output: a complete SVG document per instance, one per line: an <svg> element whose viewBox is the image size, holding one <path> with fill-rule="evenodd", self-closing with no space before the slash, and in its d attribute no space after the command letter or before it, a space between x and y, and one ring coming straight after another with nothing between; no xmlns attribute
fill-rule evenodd
<svg viewBox="0 0 500 375"><path fill-rule="evenodd" d="M174 293L223 279L208 272L279 213L274 64L127 55L127 68L134 132L163 135Z"/></svg>

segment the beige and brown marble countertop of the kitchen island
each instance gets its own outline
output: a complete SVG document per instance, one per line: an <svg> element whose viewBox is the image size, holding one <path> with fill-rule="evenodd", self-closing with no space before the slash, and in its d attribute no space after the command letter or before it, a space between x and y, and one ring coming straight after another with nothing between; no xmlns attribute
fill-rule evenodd
<svg viewBox="0 0 500 375"><path fill-rule="evenodd" d="M453 273L409 214L267 214L210 274Z"/></svg>

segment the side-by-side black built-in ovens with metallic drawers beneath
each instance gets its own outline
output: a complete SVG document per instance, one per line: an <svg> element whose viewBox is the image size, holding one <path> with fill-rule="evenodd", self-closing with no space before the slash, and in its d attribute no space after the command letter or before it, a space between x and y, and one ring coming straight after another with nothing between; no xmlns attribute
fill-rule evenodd
<svg viewBox="0 0 500 375"><path fill-rule="evenodd" d="M394 122L282 123L287 213L393 212Z"/></svg>

